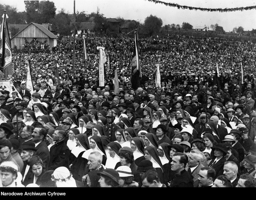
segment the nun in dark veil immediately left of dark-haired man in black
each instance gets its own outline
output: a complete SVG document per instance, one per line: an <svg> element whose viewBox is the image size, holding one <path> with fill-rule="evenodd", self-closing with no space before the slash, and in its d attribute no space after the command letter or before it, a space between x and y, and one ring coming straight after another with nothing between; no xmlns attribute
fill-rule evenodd
<svg viewBox="0 0 256 200"><path fill-rule="evenodd" d="M158 145L158 155L163 165L163 171L164 171L164 184L168 182L168 177L167 177L167 171L169 167L168 163L171 160L170 150L168 149L168 146L170 146L170 144L166 142L163 142Z"/></svg>

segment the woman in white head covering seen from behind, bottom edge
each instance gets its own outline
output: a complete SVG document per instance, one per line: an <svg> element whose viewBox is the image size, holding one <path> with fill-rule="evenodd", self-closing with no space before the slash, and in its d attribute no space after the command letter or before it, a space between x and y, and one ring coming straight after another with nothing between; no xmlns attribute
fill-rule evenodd
<svg viewBox="0 0 256 200"><path fill-rule="evenodd" d="M56 168L53 172L52 180L57 187L77 187L75 179L66 167Z"/></svg>

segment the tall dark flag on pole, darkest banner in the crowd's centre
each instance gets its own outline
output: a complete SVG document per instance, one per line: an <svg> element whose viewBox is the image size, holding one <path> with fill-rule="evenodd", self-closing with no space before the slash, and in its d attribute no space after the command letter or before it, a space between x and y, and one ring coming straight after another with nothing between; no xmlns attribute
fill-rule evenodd
<svg viewBox="0 0 256 200"><path fill-rule="evenodd" d="M141 86L140 78L142 77L141 66L139 62L137 29L134 32L134 37L135 38L134 38L134 50L133 50L133 58L132 58L131 83L132 83L132 88L136 90L138 87Z"/></svg>

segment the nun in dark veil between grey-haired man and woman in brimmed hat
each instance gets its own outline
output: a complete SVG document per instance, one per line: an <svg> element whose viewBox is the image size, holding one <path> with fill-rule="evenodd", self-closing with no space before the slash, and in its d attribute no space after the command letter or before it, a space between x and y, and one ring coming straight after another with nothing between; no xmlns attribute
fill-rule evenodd
<svg viewBox="0 0 256 200"><path fill-rule="evenodd" d="M117 142L110 142L107 145L109 150L110 158L107 159L106 168L117 169L117 167L121 166L120 157L118 155L119 149L122 148L121 145Z"/></svg>

